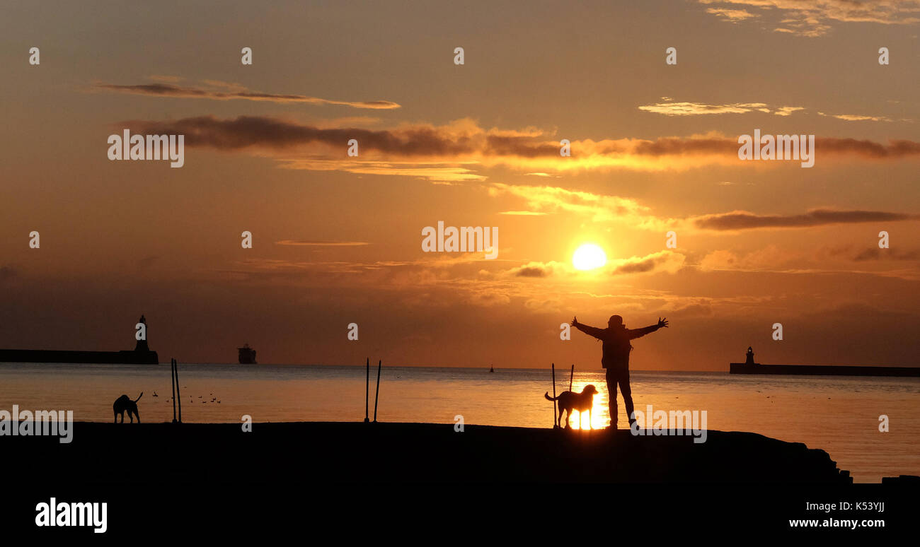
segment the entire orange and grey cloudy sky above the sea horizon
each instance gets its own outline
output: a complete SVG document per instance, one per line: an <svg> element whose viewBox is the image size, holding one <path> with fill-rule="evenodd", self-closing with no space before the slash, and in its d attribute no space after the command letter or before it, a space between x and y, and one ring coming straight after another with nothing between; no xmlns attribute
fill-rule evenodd
<svg viewBox="0 0 920 547"><path fill-rule="evenodd" d="M616 313L670 321L634 370L917 366L918 1L4 12L2 348L132 348L144 313L161 360L596 369L561 325ZM109 160L125 129L184 165ZM814 165L739 159L754 131ZM424 252L438 222L498 256Z"/></svg>

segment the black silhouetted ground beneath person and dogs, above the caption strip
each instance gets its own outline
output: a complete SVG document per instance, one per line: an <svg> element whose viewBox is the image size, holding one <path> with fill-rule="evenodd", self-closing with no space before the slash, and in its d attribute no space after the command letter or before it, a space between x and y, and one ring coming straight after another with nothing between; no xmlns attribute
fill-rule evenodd
<svg viewBox="0 0 920 547"><path fill-rule="evenodd" d="M0 447L30 469L78 470L58 474L64 484L852 482L823 450L734 431L708 431L706 442L695 443L626 429L457 432L453 424L301 422L257 423L244 432L236 424L78 422L69 444L4 437Z"/></svg>

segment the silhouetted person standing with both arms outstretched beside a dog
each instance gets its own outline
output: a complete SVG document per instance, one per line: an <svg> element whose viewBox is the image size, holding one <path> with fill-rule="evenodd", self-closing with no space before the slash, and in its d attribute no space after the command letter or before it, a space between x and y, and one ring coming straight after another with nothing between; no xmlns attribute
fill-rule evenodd
<svg viewBox="0 0 920 547"><path fill-rule="evenodd" d="M658 325L650 325L644 328L629 329L623 325L623 318L619 315L611 315L607 321L607 328L597 328L596 326L582 325L578 322L578 317L572 318L572 326L579 329L586 335L591 335L604 342L604 355L601 358L601 366L607 370L607 393L610 403L610 427L616 428L616 384L620 385L620 391L623 392L623 403L627 405L627 416L629 416L629 425L636 420L633 415L632 390L629 388L629 352L632 351L632 344L629 340L646 336L660 329L662 326L668 326L668 319L665 317L658 318Z"/></svg>

